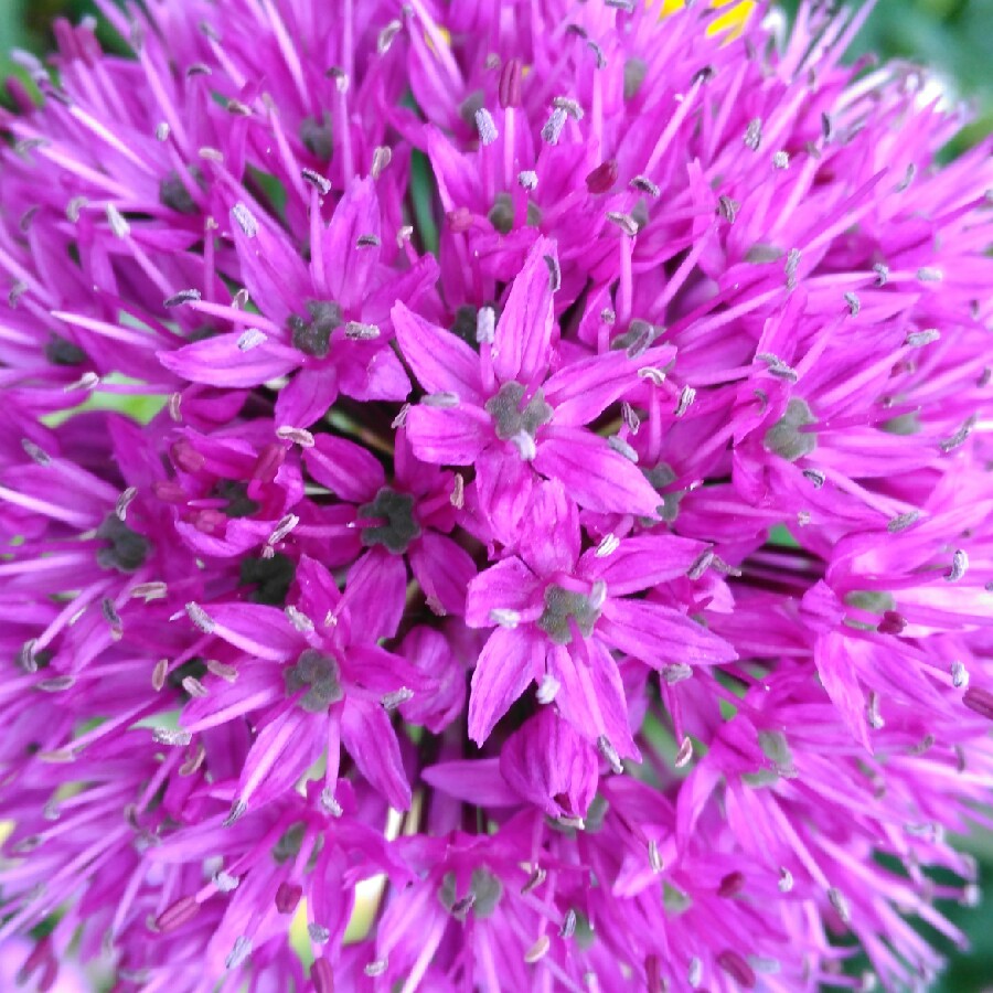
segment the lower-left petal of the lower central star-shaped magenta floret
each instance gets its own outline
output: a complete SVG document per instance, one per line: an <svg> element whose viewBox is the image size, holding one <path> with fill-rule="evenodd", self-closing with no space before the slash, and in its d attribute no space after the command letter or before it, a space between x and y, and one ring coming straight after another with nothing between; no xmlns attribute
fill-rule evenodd
<svg viewBox="0 0 993 993"><path fill-rule="evenodd" d="M482 745L496 722L540 672L544 644L530 630L498 628L483 645L472 673L469 737Z"/></svg>

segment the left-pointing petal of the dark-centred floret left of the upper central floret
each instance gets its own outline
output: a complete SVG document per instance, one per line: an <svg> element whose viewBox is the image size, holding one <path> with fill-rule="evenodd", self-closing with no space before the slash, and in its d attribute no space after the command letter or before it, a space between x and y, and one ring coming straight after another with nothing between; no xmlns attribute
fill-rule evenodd
<svg viewBox="0 0 993 993"><path fill-rule="evenodd" d="M175 352L159 352L159 361L190 383L228 388L259 386L300 364L296 349L267 341L243 351L238 348L241 338L241 332L205 338Z"/></svg>

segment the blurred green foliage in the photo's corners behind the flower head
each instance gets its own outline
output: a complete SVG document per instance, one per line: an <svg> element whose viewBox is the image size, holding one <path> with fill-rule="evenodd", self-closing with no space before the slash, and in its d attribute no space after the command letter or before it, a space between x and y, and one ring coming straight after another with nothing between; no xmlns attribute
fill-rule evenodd
<svg viewBox="0 0 993 993"><path fill-rule="evenodd" d="M797 0L782 0L782 6L796 10ZM92 12L86 0L0 0L2 77L12 71L7 56L11 47L43 53L52 44L47 25L53 18L78 19ZM109 35L103 40L113 43ZM848 57L867 51L933 66L955 98L973 104L978 119L952 143L949 154L993 130L993 0L879 0ZM980 861L987 896L979 908L942 908L970 936L972 950L962 953L940 936L928 935L950 959L933 990L993 993L993 839L972 837L963 844Z"/></svg>

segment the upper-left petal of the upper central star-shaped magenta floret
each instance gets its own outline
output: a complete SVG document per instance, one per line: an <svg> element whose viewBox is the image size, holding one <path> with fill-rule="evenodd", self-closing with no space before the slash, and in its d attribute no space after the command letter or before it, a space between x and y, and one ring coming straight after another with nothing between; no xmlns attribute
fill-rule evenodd
<svg viewBox="0 0 993 993"><path fill-rule="evenodd" d="M482 406L479 355L466 342L402 301L394 306L392 317L404 357L428 393L453 393L465 403Z"/></svg>

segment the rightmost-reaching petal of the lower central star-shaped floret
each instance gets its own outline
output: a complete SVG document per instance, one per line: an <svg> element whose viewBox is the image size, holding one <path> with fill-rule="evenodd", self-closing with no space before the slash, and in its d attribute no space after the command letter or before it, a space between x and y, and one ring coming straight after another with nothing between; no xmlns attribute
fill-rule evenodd
<svg viewBox="0 0 993 993"><path fill-rule="evenodd" d="M608 600L597 632L612 648L653 669L676 663L714 665L737 658L730 644L703 624L647 600Z"/></svg>

